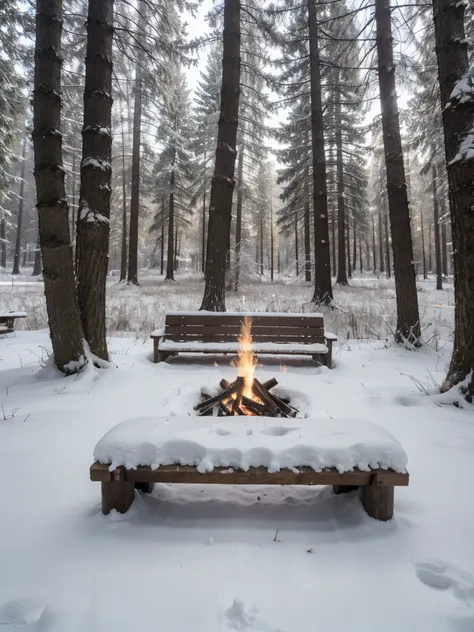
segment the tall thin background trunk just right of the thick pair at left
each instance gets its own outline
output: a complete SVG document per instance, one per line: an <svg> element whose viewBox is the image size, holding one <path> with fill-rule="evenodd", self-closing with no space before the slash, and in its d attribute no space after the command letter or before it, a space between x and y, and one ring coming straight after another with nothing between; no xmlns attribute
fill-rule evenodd
<svg viewBox="0 0 474 632"><path fill-rule="evenodd" d="M145 2L139 2L140 15L144 16ZM140 21L144 20L143 17ZM143 24L141 24L143 28ZM142 126L142 63L143 52L137 53L135 69L133 132L132 132L132 186L130 191L130 233L128 243L127 282L138 285L138 215L140 209L140 145Z"/></svg>

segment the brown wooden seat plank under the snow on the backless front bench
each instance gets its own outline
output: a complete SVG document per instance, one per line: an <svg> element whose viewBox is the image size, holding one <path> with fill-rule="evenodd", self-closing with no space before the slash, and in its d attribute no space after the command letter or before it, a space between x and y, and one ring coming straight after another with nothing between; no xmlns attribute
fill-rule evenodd
<svg viewBox="0 0 474 632"><path fill-rule="evenodd" d="M246 472L231 468L214 468L212 472L201 474L195 467L183 465L163 465L155 470L140 466L133 470L124 470L126 481L135 483L194 483L218 485L370 485L374 477L380 486L408 486L408 472L400 474L393 470L370 470L363 472L338 472L335 468L315 472L310 467L299 467L298 472L280 470L268 472L264 467L252 467ZM92 481L110 481L112 472L109 466L94 463L90 468Z"/></svg>

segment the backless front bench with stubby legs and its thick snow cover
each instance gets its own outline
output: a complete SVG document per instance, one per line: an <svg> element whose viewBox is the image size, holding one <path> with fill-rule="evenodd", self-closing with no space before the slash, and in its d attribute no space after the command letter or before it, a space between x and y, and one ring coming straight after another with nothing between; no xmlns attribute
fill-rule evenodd
<svg viewBox="0 0 474 632"><path fill-rule="evenodd" d="M369 516L390 520L394 487L408 485L403 448L368 421L210 419L139 418L109 430L90 468L102 512L125 513L135 489L154 483L332 485L336 494L359 488Z"/></svg>

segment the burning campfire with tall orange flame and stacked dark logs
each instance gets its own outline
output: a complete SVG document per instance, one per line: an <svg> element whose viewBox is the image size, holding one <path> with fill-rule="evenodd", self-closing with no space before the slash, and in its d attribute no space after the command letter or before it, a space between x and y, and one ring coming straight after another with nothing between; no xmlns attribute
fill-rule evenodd
<svg viewBox="0 0 474 632"><path fill-rule="evenodd" d="M258 362L252 348L251 329L252 319L245 318L239 337L240 349L237 352L239 376L232 384L221 380L222 390L217 395L211 397L201 392L202 401L194 407L200 416L296 417L298 411L290 406L288 399L270 392L278 384L275 378L262 384L255 377Z"/></svg>

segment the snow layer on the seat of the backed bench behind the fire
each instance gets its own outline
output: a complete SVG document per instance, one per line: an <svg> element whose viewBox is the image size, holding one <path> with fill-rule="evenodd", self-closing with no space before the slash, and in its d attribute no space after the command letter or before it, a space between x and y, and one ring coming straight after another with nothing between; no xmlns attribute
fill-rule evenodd
<svg viewBox="0 0 474 632"><path fill-rule="evenodd" d="M155 335L155 332L153 332ZM303 344L296 342L255 342L252 345L255 353L298 353L304 354L326 354L328 348L326 345L315 342L314 344ZM176 342L174 340L165 340L160 343L161 351L180 351L189 352L207 352L214 351L216 353L237 353L240 349L238 342Z"/></svg>

